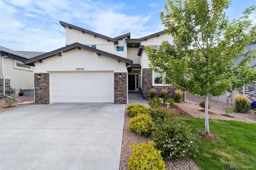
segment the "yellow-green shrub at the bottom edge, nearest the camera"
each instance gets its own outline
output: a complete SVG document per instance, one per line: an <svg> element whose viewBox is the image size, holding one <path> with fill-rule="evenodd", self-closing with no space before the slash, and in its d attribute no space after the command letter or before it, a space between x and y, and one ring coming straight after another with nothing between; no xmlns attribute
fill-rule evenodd
<svg viewBox="0 0 256 170"><path fill-rule="evenodd" d="M148 144L132 144L132 154L128 160L129 170L165 170L165 164L160 150L154 148L156 144L149 141Z"/></svg>

